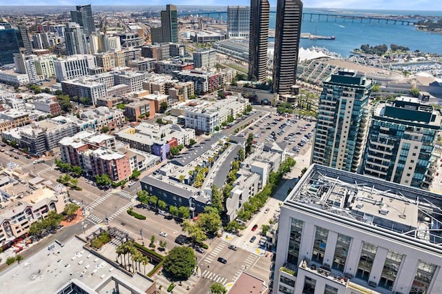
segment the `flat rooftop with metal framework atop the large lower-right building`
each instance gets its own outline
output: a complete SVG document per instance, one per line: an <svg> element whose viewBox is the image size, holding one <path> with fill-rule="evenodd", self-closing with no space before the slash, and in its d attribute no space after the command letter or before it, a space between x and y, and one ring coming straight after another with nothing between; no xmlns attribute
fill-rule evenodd
<svg viewBox="0 0 442 294"><path fill-rule="evenodd" d="M327 213L442 246L442 195L313 164L285 206Z"/></svg>

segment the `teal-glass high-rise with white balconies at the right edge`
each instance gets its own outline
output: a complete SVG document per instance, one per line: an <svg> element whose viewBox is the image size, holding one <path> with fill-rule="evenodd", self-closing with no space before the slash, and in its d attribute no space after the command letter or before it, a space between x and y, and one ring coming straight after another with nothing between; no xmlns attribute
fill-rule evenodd
<svg viewBox="0 0 442 294"><path fill-rule="evenodd" d="M379 101L371 115L362 171L390 182L430 188L441 112L419 99Z"/></svg>

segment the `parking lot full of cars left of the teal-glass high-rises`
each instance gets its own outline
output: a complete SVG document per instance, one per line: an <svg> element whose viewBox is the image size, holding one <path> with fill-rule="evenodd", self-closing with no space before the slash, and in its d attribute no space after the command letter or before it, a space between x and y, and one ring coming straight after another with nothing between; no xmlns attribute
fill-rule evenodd
<svg viewBox="0 0 442 294"><path fill-rule="evenodd" d="M254 126L246 130L244 136L253 133L256 144L287 142L289 152L300 153L305 145L311 144L314 125L315 121L309 118L269 114L261 117Z"/></svg>

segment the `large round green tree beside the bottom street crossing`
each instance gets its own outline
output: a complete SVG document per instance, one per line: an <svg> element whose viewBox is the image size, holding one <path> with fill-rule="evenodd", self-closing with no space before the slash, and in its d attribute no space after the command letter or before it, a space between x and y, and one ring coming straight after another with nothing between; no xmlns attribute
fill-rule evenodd
<svg viewBox="0 0 442 294"><path fill-rule="evenodd" d="M196 266L195 253L185 246L174 247L164 259L164 271L175 280L187 280Z"/></svg>

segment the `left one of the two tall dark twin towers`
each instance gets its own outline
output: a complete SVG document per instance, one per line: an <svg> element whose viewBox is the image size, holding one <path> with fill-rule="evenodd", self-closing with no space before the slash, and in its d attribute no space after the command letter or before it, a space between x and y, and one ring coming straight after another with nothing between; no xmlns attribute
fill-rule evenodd
<svg viewBox="0 0 442 294"><path fill-rule="evenodd" d="M250 1L249 79L251 80L265 81L267 77L269 15L269 1Z"/></svg>

